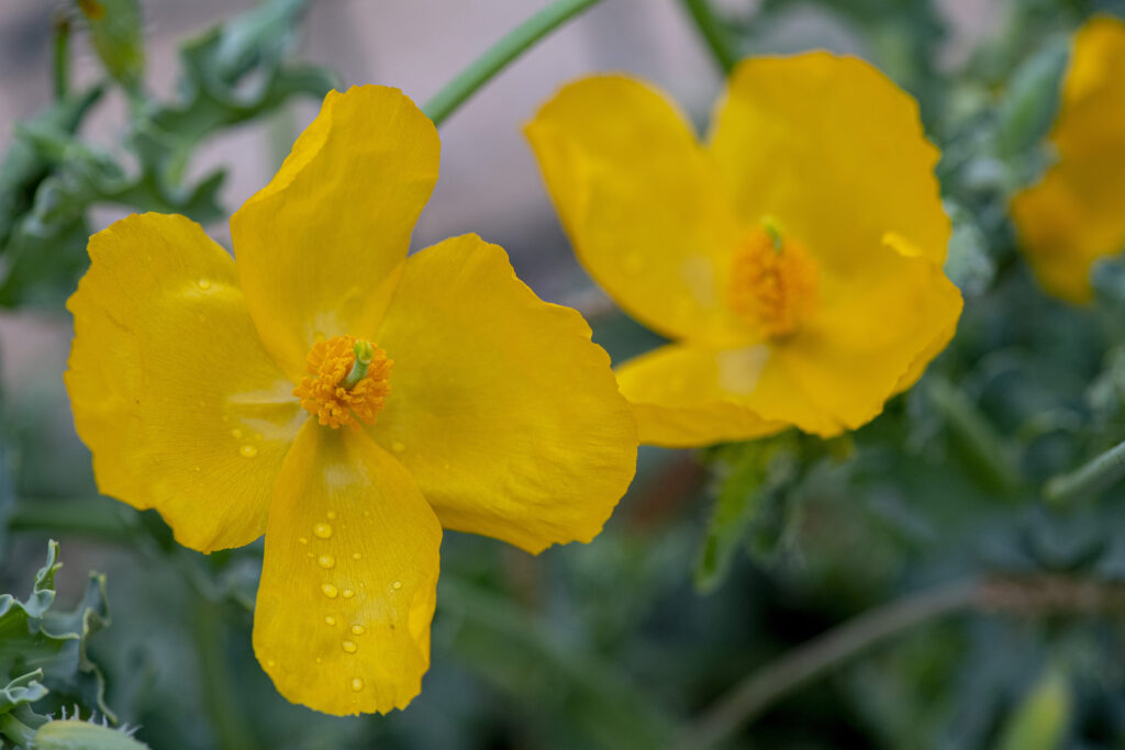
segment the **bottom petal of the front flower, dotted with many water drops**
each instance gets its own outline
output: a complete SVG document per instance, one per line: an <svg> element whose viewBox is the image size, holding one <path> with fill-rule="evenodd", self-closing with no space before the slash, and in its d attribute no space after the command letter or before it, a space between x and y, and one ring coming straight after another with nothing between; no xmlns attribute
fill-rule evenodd
<svg viewBox="0 0 1125 750"><path fill-rule="evenodd" d="M254 653L281 695L345 715L403 708L430 667L441 525L362 432L306 423L278 477Z"/></svg>

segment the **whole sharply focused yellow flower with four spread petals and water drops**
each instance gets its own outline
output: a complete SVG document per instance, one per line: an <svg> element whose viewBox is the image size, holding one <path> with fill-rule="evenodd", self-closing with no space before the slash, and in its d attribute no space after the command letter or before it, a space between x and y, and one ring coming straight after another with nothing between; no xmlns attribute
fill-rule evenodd
<svg viewBox="0 0 1125 750"><path fill-rule="evenodd" d="M475 235L407 257L438 161L397 90L330 93L232 218L237 263L183 217L130 216L90 240L69 302L99 488L202 552L264 533L254 652L332 714L417 695L442 527L590 541L633 473L577 313Z"/></svg>

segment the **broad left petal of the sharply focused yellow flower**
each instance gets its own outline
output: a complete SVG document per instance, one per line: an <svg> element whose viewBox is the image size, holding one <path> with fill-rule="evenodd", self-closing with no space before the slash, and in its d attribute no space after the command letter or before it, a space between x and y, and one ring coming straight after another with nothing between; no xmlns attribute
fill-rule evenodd
<svg viewBox="0 0 1125 750"><path fill-rule="evenodd" d="M156 508L202 552L262 534L304 418L262 349L234 262L182 216L145 214L90 238L66 388L99 489Z"/></svg>

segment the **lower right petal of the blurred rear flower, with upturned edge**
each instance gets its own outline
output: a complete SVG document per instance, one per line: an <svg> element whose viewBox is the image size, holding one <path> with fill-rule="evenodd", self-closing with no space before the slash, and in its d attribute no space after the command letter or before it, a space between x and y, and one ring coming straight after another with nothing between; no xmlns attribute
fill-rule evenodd
<svg viewBox="0 0 1125 750"><path fill-rule="evenodd" d="M888 240L862 273L826 277L819 315L776 347L793 387L848 430L921 377L961 316L961 292L942 270Z"/></svg>

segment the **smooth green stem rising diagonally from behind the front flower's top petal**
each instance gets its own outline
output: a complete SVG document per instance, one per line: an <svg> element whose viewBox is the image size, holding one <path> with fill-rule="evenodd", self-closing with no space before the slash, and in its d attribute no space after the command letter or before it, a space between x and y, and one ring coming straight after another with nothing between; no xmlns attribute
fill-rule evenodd
<svg viewBox="0 0 1125 750"><path fill-rule="evenodd" d="M477 89L504 70L508 63L523 54L536 42L598 2L601 0L555 0L508 31L500 42L472 61L457 78L434 94L422 109L434 125L441 125L446 118L457 111L458 107L476 93Z"/></svg>

